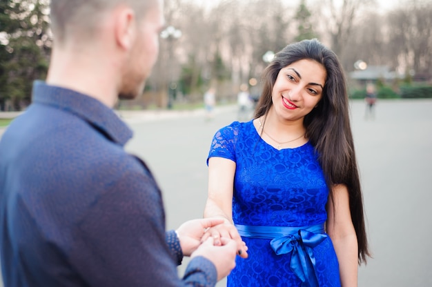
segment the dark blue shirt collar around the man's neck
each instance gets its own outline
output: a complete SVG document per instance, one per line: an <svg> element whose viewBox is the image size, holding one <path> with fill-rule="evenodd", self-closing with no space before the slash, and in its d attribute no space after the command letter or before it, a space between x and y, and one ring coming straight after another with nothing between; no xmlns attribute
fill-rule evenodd
<svg viewBox="0 0 432 287"><path fill-rule="evenodd" d="M132 138L132 130L119 119L114 110L88 95L67 88L50 86L44 81L35 81L32 101L54 106L81 117L121 146Z"/></svg>

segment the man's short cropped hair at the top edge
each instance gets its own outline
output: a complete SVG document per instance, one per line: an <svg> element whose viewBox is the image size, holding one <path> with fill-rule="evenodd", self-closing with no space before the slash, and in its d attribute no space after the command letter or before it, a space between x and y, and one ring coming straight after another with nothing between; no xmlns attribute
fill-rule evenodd
<svg viewBox="0 0 432 287"><path fill-rule="evenodd" d="M50 20L55 41L62 42L79 33L92 37L106 12L123 4L135 10L137 17L144 17L157 0L51 0Z"/></svg>

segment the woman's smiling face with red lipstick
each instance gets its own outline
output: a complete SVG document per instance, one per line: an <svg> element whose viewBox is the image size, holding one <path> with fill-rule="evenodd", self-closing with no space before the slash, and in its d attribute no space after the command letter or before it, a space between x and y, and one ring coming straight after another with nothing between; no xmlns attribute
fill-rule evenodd
<svg viewBox="0 0 432 287"><path fill-rule="evenodd" d="M322 98L326 80L324 66L302 59L282 68L273 86L276 115L286 120L303 120Z"/></svg>

